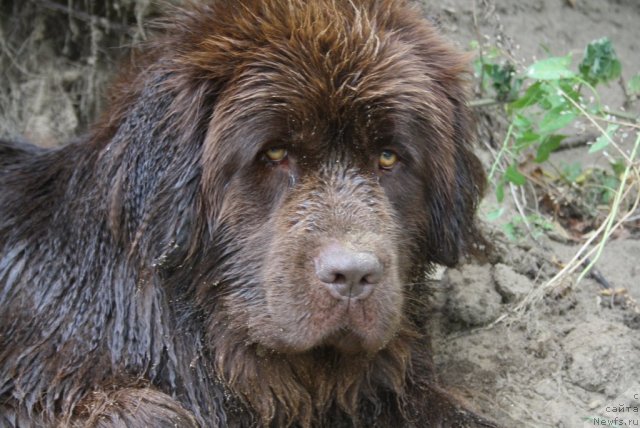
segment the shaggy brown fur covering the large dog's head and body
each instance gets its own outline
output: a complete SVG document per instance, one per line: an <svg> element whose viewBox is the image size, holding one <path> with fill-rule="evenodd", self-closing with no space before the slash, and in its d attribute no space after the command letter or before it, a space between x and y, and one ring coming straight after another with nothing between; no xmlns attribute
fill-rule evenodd
<svg viewBox="0 0 640 428"><path fill-rule="evenodd" d="M164 30L89 136L0 143L0 425L491 426L423 331L484 181L465 59L401 0Z"/></svg>

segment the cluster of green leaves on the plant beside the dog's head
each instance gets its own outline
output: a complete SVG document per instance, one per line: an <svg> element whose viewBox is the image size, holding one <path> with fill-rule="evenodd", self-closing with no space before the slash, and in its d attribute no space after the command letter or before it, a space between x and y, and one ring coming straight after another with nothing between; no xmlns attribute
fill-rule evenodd
<svg viewBox="0 0 640 428"><path fill-rule="evenodd" d="M596 86L619 78L621 64L611 42L602 38L586 47L577 71L572 69L571 56L537 61L521 75L516 75L510 63L485 63L482 70L483 79L491 82L483 83L484 87L493 88L497 101L507 101L505 112L510 120L489 174L496 198L502 202L505 186L527 183L520 170L524 153L534 153L534 161L544 163L561 147L570 134L569 127L578 119L602 119L610 114L600 105ZM528 85L522 90L525 83ZM630 86L637 84L632 83ZM593 101L586 101L585 88ZM609 123L589 153L606 149L619 128L619 124Z"/></svg>

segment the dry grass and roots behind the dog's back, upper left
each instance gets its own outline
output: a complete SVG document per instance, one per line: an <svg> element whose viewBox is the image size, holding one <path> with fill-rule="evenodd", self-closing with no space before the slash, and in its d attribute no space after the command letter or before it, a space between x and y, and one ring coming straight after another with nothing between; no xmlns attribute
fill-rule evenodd
<svg viewBox="0 0 640 428"><path fill-rule="evenodd" d="M0 11L0 137L47 146L95 119L155 12L149 0L4 0Z"/></svg>

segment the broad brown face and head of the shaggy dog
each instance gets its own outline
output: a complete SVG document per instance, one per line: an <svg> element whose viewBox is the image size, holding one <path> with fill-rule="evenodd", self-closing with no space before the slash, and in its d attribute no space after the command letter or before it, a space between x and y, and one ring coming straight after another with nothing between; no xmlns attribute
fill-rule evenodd
<svg viewBox="0 0 640 428"><path fill-rule="evenodd" d="M398 2L274 3L201 44L233 62L203 149L217 286L201 299L269 349L373 353L471 227L466 65Z"/></svg>

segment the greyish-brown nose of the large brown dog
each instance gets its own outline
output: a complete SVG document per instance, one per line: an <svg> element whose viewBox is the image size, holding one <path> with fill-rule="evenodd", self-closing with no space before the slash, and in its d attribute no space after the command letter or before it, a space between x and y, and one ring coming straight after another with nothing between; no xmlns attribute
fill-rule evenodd
<svg viewBox="0 0 640 428"><path fill-rule="evenodd" d="M383 266L370 252L354 251L331 244L315 259L316 275L336 299L361 300L369 297L382 279Z"/></svg>

